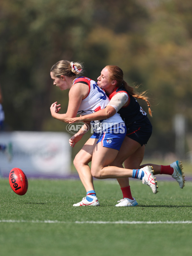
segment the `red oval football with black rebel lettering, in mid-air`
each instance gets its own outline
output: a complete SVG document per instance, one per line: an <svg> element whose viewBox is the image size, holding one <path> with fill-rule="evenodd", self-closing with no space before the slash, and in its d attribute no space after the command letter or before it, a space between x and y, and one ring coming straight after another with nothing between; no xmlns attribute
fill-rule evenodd
<svg viewBox="0 0 192 256"><path fill-rule="evenodd" d="M19 168L13 168L9 174L9 184L17 195L25 195L28 189L28 180L25 173Z"/></svg>

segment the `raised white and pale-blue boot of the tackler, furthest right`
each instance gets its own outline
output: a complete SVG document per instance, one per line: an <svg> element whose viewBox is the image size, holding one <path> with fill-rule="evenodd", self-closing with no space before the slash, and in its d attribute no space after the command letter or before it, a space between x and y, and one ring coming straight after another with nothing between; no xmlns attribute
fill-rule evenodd
<svg viewBox="0 0 192 256"><path fill-rule="evenodd" d="M182 171L182 162L177 160L176 162L170 164L170 166L174 169L172 177L177 180L180 188L183 188L185 186L185 176Z"/></svg>

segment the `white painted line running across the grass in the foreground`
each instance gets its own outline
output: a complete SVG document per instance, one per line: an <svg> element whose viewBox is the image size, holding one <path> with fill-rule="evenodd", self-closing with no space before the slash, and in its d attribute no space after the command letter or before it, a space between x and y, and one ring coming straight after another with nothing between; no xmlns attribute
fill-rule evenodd
<svg viewBox="0 0 192 256"><path fill-rule="evenodd" d="M0 223L50 223L50 224L192 224L192 221L57 221L57 220L0 220Z"/></svg>

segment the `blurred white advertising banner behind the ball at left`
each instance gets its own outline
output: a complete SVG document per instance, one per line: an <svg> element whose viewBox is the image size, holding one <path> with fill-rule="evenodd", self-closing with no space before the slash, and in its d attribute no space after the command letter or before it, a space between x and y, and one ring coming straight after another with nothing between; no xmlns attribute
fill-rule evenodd
<svg viewBox="0 0 192 256"><path fill-rule="evenodd" d="M1 132L0 176L16 167L28 178L65 177L71 169L69 138L56 132Z"/></svg>

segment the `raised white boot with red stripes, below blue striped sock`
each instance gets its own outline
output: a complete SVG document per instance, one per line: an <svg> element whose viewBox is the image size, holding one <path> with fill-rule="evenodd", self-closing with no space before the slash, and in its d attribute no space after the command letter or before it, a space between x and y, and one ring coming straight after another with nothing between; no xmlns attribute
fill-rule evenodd
<svg viewBox="0 0 192 256"><path fill-rule="evenodd" d="M140 170L144 171L144 177L142 178L142 183L148 185L154 194L156 194L157 191L157 181L155 180L153 176L153 167L152 166L145 166L141 168Z"/></svg>

